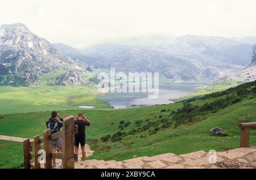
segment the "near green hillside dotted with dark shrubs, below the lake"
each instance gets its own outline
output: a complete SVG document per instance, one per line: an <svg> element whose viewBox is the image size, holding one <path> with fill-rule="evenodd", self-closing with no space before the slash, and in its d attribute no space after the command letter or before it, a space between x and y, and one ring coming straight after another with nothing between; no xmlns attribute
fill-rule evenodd
<svg viewBox="0 0 256 180"><path fill-rule="evenodd" d="M72 109L60 113L65 117L82 111L92 121L92 126L86 128L86 143L94 150L89 158L125 160L167 152L223 151L239 147L239 123L256 122L255 89L256 82L253 82L170 105L118 110ZM50 113L6 114L0 119L0 134L42 136ZM224 128L228 136L211 136L209 130L213 127ZM251 130L250 135L251 145L256 145L256 131ZM22 166L22 144L1 140L0 152L0 168Z"/></svg>

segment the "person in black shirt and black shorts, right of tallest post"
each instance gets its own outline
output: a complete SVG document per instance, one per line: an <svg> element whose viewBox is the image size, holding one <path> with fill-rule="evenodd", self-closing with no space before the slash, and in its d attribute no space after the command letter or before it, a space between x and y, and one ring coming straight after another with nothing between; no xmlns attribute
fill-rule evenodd
<svg viewBox="0 0 256 180"><path fill-rule="evenodd" d="M79 144L81 145L82 160L85 161L85 126L90 126L90 121L84 114L79 113L75 120L75 125L78 126L78 133L75 134L75 153L79 152Z"/></svg>

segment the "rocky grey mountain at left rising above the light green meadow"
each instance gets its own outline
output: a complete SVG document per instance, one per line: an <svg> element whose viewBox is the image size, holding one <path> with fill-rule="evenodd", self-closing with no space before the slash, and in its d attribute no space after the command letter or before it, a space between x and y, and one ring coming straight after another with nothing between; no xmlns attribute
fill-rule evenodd
<svg viewBox="0 0 256 180"><path fill-rule="evenodd" d="M72 69L83 68L24 24L1 25L0 85L38 85L44 74Z"/></svg>

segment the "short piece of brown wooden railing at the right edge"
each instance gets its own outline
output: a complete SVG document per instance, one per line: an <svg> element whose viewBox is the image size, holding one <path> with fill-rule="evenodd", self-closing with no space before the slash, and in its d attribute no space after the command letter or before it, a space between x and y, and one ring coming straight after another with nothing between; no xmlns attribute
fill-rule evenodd
<svg viewBox="0 0 256 180"><path fill-rule="evenodd" d="M256 128L256 122L240 123L241 130L240 147L245 148L250 146L250 128Z"/></svg>

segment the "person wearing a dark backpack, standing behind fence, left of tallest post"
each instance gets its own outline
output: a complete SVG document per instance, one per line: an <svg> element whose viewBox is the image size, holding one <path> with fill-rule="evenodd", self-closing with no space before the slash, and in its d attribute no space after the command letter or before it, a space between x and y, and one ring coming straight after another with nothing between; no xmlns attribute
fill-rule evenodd
<svg viewBox="0 0 256 180"><path fill-rule="evenodd" d="M57 118L60 119L60 121L57 120ZM46 122L47 128L51 130L51 134L60 131L60 128L63 127L63 118L60 117L60 114L57 112L52 112L51 118ZM52 148L52 153L56 152L56 147L60 149L61 152L63 152L63 139L62 137L53 139L51 142L51 148ZM52 168L56 169L56 161L55 158L52 158Z"/></svg>

